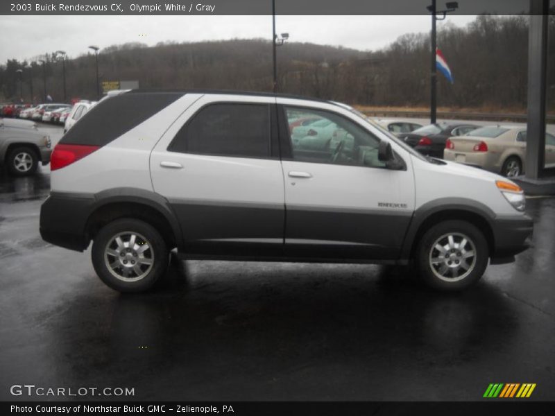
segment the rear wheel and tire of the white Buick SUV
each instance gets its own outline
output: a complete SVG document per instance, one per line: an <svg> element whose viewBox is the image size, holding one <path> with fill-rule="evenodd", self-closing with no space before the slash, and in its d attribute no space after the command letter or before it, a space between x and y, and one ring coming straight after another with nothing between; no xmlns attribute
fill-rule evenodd
<svg viewBox="0 0 555 416"><path fill-rule="evenodd" d="M136 249L128 247L122 250L125 243L130 243L132 235L135 235ZM117 236L123 245L119 245ZM148 248L144 249L145 245ZM119 257L113 253L119 254ZM110 288L123 293L148 291L166 273L169 263L167 244L160 232L152 225L133 218L114 220L102 227L94 238L91 257L100 279ZM147 263L149 260L150 266ZM110 267L110 263L117 266Z"/></svg>

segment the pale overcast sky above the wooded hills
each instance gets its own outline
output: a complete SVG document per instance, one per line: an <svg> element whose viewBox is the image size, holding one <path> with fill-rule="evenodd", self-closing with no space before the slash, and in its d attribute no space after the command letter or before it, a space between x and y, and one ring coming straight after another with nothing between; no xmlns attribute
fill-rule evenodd
<svg viewBox="0 0 555 416"><path fill-rule="evenodd" d="M475 16L449 16L466 26ZM438 28L445 24L438 22ZM278 16L276 31L293 42L341 45L361 51L380 49L404 33L428 32L429 16ZM196 42L232 38L271 39L271 16L1 16L0 64L66 51L70 58L126 42Z"/></svg>

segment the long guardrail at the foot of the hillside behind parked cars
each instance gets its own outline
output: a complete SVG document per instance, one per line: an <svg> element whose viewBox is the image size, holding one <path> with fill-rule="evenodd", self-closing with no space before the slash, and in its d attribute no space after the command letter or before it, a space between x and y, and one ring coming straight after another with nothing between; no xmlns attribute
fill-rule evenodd
<svg viewBox="0 0 555 416"><path fill-rule="evenodd" d="M409 119L427 119L429 111L415 110L367 110L363 111L367 116L373 117L406 117ZM478 112L437 112L438 119L453 120L484 120L484 121L513 121L526 123L527 114L511 114L511 113L478 113ZM546 123L555 123L555 115L545 117Z"/></svg>

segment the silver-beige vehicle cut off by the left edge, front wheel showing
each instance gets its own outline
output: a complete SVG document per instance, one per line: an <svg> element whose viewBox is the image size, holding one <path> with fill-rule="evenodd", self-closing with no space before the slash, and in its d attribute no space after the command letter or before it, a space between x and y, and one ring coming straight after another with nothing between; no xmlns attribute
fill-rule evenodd
<svg viewBox="0 0 555 416"><path fill-rule="evenodd" d="M50 137L31 121L0 119L0 164L15 176L31 175L50 162Z"/></svg>

